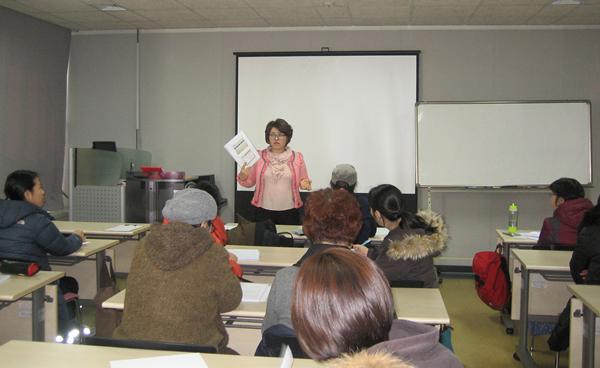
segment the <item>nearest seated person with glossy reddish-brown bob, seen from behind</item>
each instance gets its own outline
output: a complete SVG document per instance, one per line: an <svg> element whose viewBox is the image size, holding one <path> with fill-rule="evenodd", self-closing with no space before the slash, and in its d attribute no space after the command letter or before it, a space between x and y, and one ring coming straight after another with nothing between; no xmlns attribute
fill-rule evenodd
<svg viewBox="0 0 600 368"><path fill-rule="evenodd" d="M327 249L302 264L292 293L292 323L302 349L318 361L367 349L415 367L462 367L438 342L438 328L394 319L383 272L343 249Z"/></svg>

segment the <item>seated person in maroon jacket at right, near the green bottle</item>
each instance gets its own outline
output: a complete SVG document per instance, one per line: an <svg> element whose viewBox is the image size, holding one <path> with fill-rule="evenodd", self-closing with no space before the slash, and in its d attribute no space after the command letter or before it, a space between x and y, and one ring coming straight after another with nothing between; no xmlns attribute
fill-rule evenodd
<svg viewBox="0 0 600 368"><path fill-rule="evenodd" d="M554 213L544 219L536 249L572 247L577 242L577 227L586 211L594 205L585 198L581 184L571 178L560 178L550 184L550 201Z"/></svg>

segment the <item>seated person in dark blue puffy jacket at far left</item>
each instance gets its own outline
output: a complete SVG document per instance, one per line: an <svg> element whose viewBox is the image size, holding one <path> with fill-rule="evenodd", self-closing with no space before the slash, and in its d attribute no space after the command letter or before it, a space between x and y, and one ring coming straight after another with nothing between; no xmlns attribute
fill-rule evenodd
<svg viewBox="0 0 600 368"><path fill-rule="evenodd" d="M46 192L37 173L18 170L6 178L6 200L0 200L0 259L35 262L50 271L48 253L66 256L85 241L83 231L64 236L52 223L52 216L42 207ZM63 333L72 324L72 316L58 289L58 328Z"/></svg>

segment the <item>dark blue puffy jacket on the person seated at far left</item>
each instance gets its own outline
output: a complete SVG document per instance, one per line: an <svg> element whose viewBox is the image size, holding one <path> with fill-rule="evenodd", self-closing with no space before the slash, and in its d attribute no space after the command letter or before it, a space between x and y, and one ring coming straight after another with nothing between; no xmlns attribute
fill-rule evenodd
<svg viewBox="0 0 600 368"><path fill-rule="evenodd" d="M63 236L42 208L25 201L0 200L0 259L33 261L49 271L48 253L65 256L79 247L81 239Z"/></svg>

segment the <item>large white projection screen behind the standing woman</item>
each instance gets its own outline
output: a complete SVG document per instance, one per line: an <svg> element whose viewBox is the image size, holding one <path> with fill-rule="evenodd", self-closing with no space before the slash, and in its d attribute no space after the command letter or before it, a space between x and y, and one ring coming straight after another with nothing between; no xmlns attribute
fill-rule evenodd
<svg viewBox="0 0 600 368"><path fill-rule="evenodd" d="M391 183L415 193L417 52L237 56L237 130L258 149L267 122L282 118L313 189L329 187L333 168L348 163L356 192Z"/></svg>

